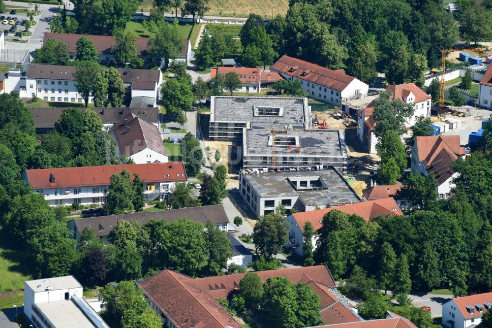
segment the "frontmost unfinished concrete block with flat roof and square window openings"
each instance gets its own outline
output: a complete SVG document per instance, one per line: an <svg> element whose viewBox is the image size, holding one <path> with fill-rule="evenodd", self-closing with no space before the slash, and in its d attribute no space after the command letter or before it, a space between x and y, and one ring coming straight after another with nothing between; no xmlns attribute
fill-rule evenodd
<svg viewBox="0 0 492 328"><path fill-rule="evenodd" d="M258 217L274 212L278 205L307 212L316 206L327 208L361 201L333 167L267 173L242 170L239 192Z"/></svg>

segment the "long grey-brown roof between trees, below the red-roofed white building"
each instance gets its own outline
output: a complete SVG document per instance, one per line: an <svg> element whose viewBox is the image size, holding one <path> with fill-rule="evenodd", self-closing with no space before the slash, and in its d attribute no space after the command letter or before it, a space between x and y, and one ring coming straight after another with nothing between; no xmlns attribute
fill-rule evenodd
<svg viewBox="0 0 492 328"><path fill-rule="evenodd" d="M212 221L215 224L228 223L229 219L222 205L209 205L188 207L179 209L169 209L165 211L155 212L138 212L121 215L106 215L97 216L93 218L82 218L74 220L77 230L81 232L86 227L90 227L94 230L94 233L98 237L107 236L117 222L124 221L137 221L140 226L145 225L151 220L173 222L178 218L186 218L192 221L206 223Z"/></svg>

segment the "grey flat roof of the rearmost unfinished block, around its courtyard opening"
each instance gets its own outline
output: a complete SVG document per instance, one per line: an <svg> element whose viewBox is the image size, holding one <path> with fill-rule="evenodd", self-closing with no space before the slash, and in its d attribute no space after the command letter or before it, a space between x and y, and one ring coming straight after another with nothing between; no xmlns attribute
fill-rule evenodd
<svg viewBox="0 0 492 328"><path fill-rule="evenodd" d="M253 107L281 107L281 116L255 116ZM281 129L288 124L297 129L310 123L307 98L279 97L212 97L211 122L250 122L252 129L258 124Z"/></svg>

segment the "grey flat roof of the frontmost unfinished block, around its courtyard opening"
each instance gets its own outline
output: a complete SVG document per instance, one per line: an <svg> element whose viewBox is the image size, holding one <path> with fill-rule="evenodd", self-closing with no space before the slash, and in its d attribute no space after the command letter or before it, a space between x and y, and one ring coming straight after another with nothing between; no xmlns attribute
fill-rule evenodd
<svg viewBox="0 0 492 328"><path fill-rule="evenodd" d="M246 181L260 197L300 196L307 205L329 205L330 203L358 203L361 199L349 184L332 168L306 171L281 171L244 174ZM327 186L318 190L295 190L288 178L319 177Z"/></svg>

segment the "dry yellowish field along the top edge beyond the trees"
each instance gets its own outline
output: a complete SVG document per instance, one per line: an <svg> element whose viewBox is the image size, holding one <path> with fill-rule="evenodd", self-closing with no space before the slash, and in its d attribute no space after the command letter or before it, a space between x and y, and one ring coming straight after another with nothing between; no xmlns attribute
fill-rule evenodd
<svg viewBox="0 0 492 328"><path fill-rule="evenodd" d="M144 0L141 8L148 11L152 8L153 0ZM249 14L258 14L264 18L272 18L277 15L285 16L289 9L288 0L210 0L210 10L207 16L248 17ZM174 12L174 8L169 9ZM178 8L178 15L180 10Z"/></svg>

